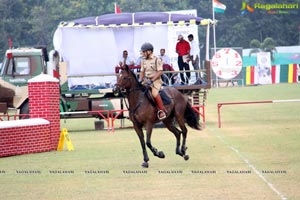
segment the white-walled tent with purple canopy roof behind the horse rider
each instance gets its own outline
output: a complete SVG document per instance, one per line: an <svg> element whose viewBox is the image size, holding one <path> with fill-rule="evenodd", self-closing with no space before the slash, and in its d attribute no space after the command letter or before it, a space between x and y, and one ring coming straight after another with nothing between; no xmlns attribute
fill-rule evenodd
<svg viewBox="0 0 300 200"><path fill-rule="evenodd" d="M68 63L69 87L114 84L115 77L94 76L113 74L115 66L122 59L123 50L127 50L129 57L136 61L140 56L140 47L145 42L153 44L155 55L159 54L159 49L165 48L176 69L175 45L178 35L187 38L188 34L193 34L198 42L198 25L211 22L196 17L196 10L185 13L106 14L61 22L53 43L62 59Z"/></svg>

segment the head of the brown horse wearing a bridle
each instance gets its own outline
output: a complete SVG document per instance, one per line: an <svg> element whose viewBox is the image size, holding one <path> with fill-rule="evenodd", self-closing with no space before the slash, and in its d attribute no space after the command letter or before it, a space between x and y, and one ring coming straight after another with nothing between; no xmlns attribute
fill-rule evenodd
<svg viewBox="0 0 300 200"><path fill-rule="evenodd" d="M137 88L138 86L139 82L135 74L130 70L128 65L125 65L120 74L118 74L114 92L125 92L130 89Z"/></svg>

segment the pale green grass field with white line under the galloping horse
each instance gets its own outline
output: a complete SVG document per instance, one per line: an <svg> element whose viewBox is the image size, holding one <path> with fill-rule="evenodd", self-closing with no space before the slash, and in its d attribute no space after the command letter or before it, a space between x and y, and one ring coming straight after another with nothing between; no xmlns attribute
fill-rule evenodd
<svg viewBox="0 0 300 200"><path fill-rule="evenodd" d="M300 199L300 102L224 106L218 128L218 102L273 99L300 99L300 85L209 90L206 128L189 129L190 159L156 128L166 158L148 151L148 169L133 129L62 120L75 150L0 158L0 199Z"/></svg>

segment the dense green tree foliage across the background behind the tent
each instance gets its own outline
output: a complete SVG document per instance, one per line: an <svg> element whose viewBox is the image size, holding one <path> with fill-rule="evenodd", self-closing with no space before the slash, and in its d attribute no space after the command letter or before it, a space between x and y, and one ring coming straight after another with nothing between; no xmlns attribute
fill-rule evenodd
<svg viewBox="0 0 300 200"><path fill-rule="evenodd" d="M216 13L217 47L249 48L254 39L264 43L272 38L278 46L300 45L300 13L270 14L255 9L241 15L241 2L220 0L227 6L224 14ZM249 1L246 1L249 2ZM260 0L260 3L270 3ZM281 1L275 1L281 2ZM285 3L300 0L286 0ZM171 11L197 9L203 18L212 18L212 3L207 0L117 0L122 12ZM249 3L250 4L250 3ZM251 5L251 4L250 4ZM8 38L17 46L47 45L53 48L52 38L61 21L97 16L114 12L110 0L1 0L0 1L0 54L8 48ZM212 30L210 31L212 34ZM199 28L201 43L205 43L205 27ZM212 35L211 45L212 45ZM1 62L1 60L0 60Z"/></svg>

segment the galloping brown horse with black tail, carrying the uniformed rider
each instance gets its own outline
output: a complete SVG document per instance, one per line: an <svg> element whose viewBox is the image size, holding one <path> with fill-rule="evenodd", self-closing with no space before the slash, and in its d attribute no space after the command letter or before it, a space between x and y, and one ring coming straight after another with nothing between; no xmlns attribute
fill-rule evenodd
<svg viewBox="0 0 300 200"><path fill-rule="evenodd" d="M114 90L116 92L121 92L128 99L129 105L127 107L129 110L129 117L133 122L134 129L140 139L143 150L144 163L142 164L142 167L147 168L149 166L149 157L146 145L155 156L159 158L165 157L162 151L158 151L151 144L153 126L155 123L159 122L157 118L157 108L151 99L147 97L147 87L141 85L136 75L129 69L128 66L125 66L118 75ZM169 131L174 133L176 137L176 154L182 156L185 160L188 160L189 156L186 154L187 128L185 123L187 123L191 128L201 130L198 115L188 102L188 98L177 89L173 87L164 87L163 91L169 98L169 103L168 105L165 105L167 118L165 118L162 122ZM175 126L176 122L181 130ZM147 133L146 143L144 140L143 127L146 129ZM182 146L180 148L181 135L183 139Z"/></svg>

